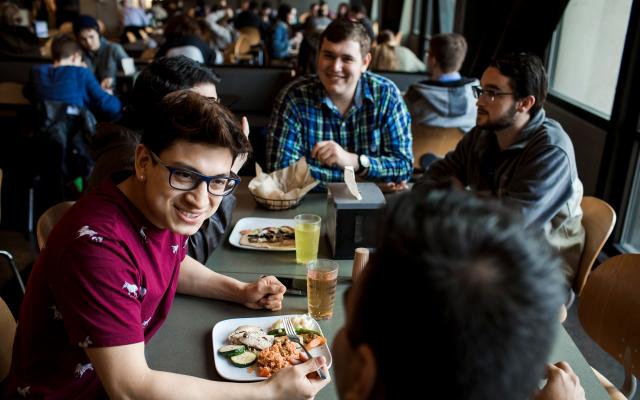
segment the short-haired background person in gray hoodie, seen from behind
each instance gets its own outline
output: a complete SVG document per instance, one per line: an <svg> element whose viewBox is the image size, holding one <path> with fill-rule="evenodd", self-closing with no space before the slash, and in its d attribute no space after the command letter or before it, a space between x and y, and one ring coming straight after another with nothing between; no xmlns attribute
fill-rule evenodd
<svg viewBox="0 0 640 400"><path fill-rule="evenodd" d="M478 80L460 75L467 41L457 33L441 33L429 41L431 77L409 86L405 95L413 122L468 132L476 123L473 86Z"/></svg>

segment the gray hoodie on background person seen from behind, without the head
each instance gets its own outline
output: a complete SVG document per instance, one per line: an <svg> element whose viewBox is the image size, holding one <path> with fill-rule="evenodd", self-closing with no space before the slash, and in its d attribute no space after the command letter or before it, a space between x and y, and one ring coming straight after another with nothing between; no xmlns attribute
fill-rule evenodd
<svg viewBox="0 0 640 400"><path fill-rule="evenodd" d="M409 86L405 102L411 120L418 124L442 128L459 128L468 132L476 124L476 99L471 88L477 79L456 81L422 81Z"/></svg>

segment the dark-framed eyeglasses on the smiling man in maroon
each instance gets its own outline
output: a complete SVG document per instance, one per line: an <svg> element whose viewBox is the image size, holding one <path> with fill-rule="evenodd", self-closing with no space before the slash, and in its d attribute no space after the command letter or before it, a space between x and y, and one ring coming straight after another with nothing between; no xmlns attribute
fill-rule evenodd
<svg viewBox="0 0 640 400"><path fill-rule="evenodd" d="M240 183L240 177L233 172L230 176L216 175L207 176L199 174L195 171L188 169L171 167L158 157L154 152L151 153L151 158L158 164L169 170L169 186L177 190L189 191L200 186L202 182L207 184L207 192L212 196L226 196L231 194L233 190Z"/></svg>

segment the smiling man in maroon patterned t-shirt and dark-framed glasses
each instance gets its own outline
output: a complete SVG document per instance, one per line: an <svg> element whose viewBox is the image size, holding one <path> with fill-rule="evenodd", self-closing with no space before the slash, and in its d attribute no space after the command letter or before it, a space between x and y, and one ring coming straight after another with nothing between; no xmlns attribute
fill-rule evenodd
<svg viewBox="0 0 640 400"><path fill-rule="evenodd" d="M237 186L251 150L239 122L191 90L164 97L136 147L134 174L103 181L64 215L38 258L20 311L7 398L312 398L322 357L254 384L154 371L145 343L176 292L279 310L273 276L245 283L187 255L187 239Z"/></svg>

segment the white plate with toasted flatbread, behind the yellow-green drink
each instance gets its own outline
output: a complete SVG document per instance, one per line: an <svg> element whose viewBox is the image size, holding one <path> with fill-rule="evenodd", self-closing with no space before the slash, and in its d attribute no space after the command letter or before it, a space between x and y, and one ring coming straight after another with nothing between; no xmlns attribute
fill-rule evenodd
<svg viewBox="0 0 640 400"><path fill-rule="evenodd" d="M229 243L241 249L295 251L295 221L279 218L242 218L236 222Z"/></svg>

